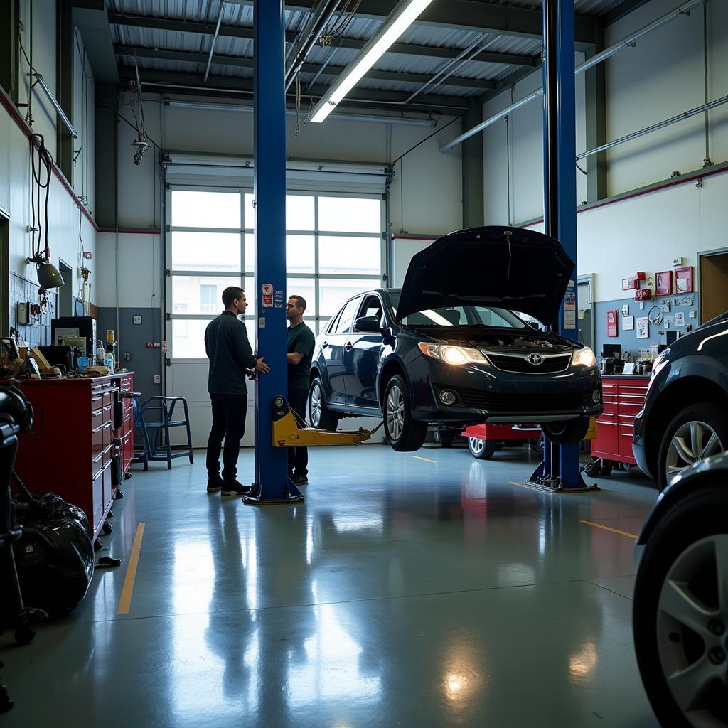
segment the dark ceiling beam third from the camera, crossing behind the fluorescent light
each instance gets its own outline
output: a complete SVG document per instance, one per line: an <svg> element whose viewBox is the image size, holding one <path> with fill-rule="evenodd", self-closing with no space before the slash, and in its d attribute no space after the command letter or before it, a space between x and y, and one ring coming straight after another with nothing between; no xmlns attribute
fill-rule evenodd
<svg viewBox="0 0 728 728"><path fill-rule="evenodd" d="M207 53L191 51L165 50L162 48L142 48L135 46L114 46L116 55L134 56L137 58L156 58L157 60L178 60L186 63L207 63ZM217 66L234 66L237 68L253 68L253 58L240 58L231 55L213 55L213 63ZM301 71L306 74L316 74L321 70L319 63L304 63ZM345 66L326 66L324 75L338 76L345 70ZM368 79L381 81L408 82L426 84L433 76L430 74L410 74L400 71L376 71L371 69L365 75ZM451 76L443 82L444 86L457 86L470 89L490 90L496 88L495 81L488 79L468 79L462 76Z"/></svg>

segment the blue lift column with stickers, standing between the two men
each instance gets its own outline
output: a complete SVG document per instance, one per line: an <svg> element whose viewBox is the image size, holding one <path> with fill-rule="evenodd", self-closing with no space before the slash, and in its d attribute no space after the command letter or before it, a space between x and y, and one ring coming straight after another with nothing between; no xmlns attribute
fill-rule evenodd
<svg viewBox="0 0 728 728"><path fill-rule="evenodd" d="M256 2L253 16L258 356L271 368L256 379L256 480L243 502L301 502L288 480L288 450L272 444L274 406L288 397L285 318L285 15L282 0ZM251 296L248 296L251 298Z"/></svg>

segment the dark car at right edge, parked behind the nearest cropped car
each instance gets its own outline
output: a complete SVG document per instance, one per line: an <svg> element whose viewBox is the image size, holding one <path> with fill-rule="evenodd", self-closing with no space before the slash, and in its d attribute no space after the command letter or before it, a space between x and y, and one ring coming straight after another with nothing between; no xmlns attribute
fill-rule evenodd
<svg viewBox="0 0 728 728"><path fill-rule="evenodd" d="M727 336L728 312L673 341L652 363L632 449L660 489L694 462L728 450Z"/></svg>

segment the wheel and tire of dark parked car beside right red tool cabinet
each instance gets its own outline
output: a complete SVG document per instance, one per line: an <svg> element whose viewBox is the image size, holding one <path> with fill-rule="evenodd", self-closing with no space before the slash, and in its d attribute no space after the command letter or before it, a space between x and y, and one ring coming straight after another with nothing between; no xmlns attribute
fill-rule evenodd
<svg viewBox="0 0 728 728"><path fill-rule="evenodd" d="M697 425L697 431L694 429ZM713 441L713 435L715 440ZM689 438L689 440L686 440ZM687 444L682 450L679 440ZM699 440L697 448L693 439ZM697 452L696 452L697 450ZM728 450L728 414L718 405L699 403L686 407L673 418L660 443L657 456L657 488L662 490L680 470L693 462Z"/></svg>

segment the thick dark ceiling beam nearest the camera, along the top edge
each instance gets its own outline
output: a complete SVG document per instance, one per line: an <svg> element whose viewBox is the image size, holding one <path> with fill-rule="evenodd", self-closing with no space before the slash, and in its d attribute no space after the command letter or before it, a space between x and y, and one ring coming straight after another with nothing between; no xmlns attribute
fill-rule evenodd
<svg viewBox="0 0 728 728"><path fill-rule="evenodd" d="M296 10L310 10L317 0L287 0L285 7ZM246 5L253 0L245 0ZM382 20L392 12L392 0L362 0L357 17ZM587 15L575 17L575 39L577 50L586 50L579 45L592 46L596 42L598 21ZM463 31L487 31L507 36L541 39L543 17L540 9L512 7L483 0L447 0L434 2L422 11L416 25L437 25Z"/></svg>

